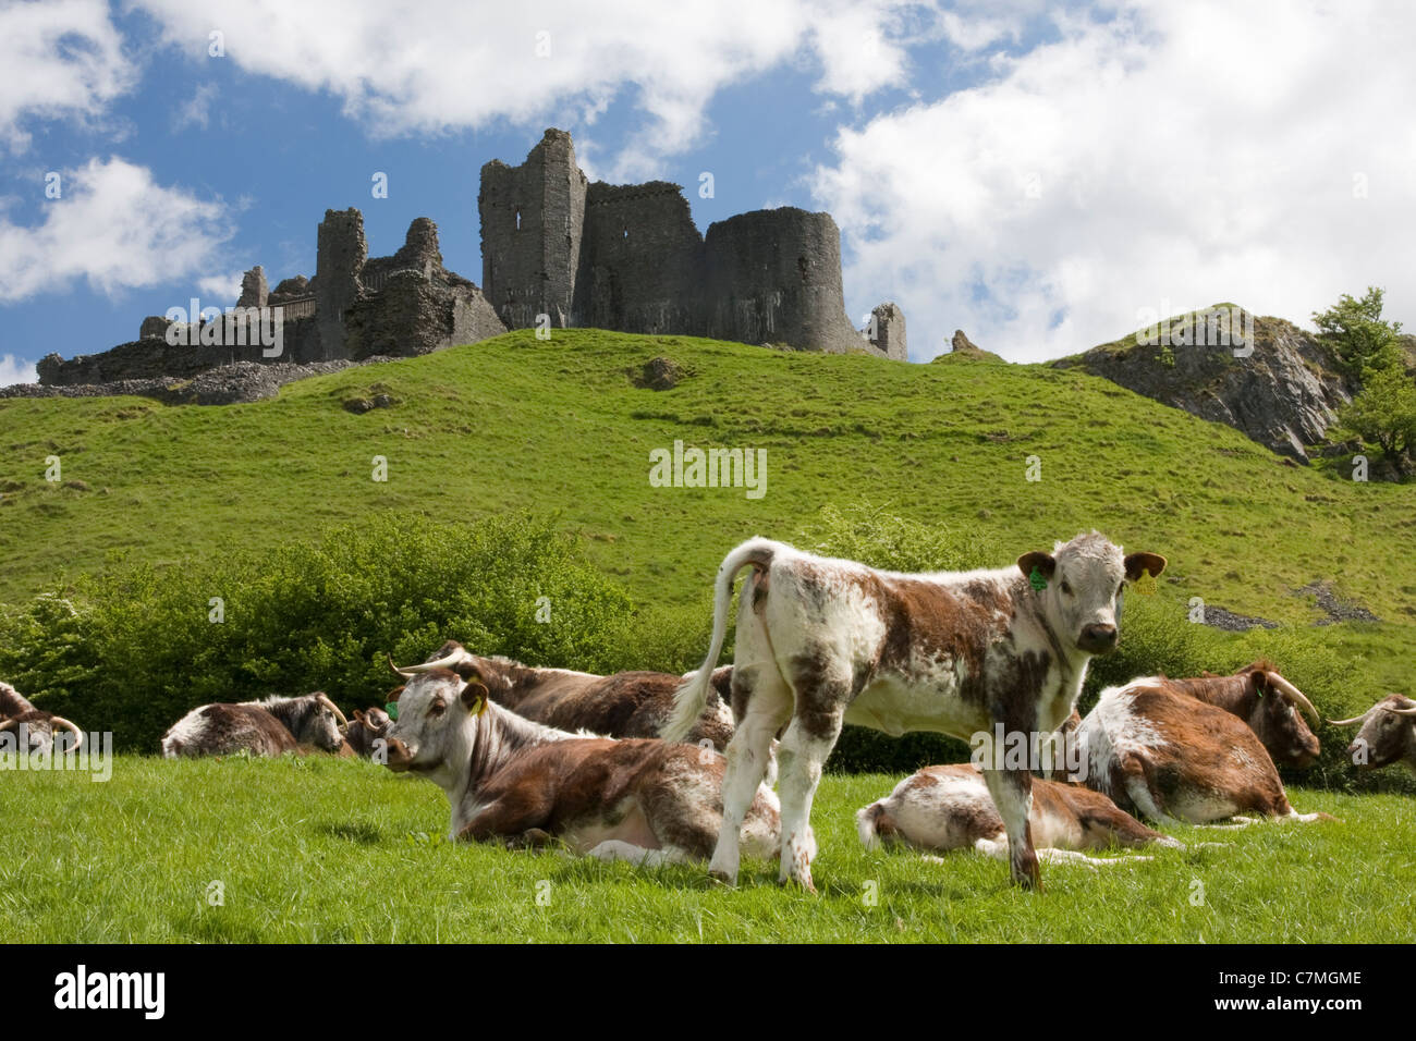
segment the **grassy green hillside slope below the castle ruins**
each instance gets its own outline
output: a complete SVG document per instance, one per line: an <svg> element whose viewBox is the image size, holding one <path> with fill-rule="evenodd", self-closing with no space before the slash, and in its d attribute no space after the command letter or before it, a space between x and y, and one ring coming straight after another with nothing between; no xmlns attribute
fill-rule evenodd
<svg viewBox="0 0 1416 1041"><path fill-rule="evenodd" d="M634 385L670 357L673 389ZM362 415L353 398L391 395ZM210 558L382 507L435 518L558 510L644 602L702 603L724 552L792 538L827 504L984 525L1018 552L1099 527L1165 554L1165 582L1308 623L1331 579L1416 615L1416 496L1283 465L1219 423L1042 365L766 351L596 330L511 333L225 408L140 398L0 402L0 602L127 551ZM654 487L650 452L766 450L765 494ZM58 483L44 480L58 456ZM387 482L372 480L374 457ZM1027 480L1037 456L1041 480Z"/></svg>

